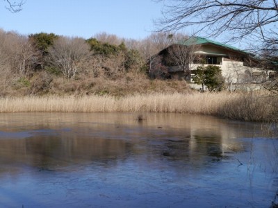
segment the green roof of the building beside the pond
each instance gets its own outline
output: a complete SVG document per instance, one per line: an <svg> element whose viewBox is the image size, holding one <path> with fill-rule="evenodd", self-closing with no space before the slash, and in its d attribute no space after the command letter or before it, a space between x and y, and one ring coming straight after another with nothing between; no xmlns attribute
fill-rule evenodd
<svg viewBox="0 0 278 208"><path fill-rule="evenodd" d="M183 41L179 41L177 42L177 44L182 44L182 45L185 45L185 46L192 46L192 45L199 45L199 44L214 44L214 45L217 45L217 46L222 46L224 48L227 48L227 49L231 49L231 50L234 50L234 51L240 51L242 53L247 53L245 51L242 51L234 46L230 46L228 44L222 44L220 42L216 42L216 41L213 41L213 40L208 40L204 37L190 37L188 38L188 40L183 40Z"/></svg>

